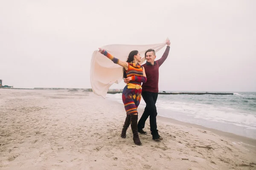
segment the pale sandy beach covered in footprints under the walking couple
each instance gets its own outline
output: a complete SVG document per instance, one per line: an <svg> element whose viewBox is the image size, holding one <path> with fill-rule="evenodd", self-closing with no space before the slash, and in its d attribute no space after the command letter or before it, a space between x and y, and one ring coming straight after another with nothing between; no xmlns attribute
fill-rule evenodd
<svg viewBox="0 0 256 170"><path fill-rule="evenodd" d="M0 170L256 170L254 139L158 117L163 140L147 120L137 146L125 116L92 92L0 89Z"/></svg>

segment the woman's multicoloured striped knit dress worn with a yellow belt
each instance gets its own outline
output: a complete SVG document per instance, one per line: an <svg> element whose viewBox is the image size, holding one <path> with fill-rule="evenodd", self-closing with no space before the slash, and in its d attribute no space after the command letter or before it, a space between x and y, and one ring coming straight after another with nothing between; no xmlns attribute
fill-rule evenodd
<svg viewBox="0 0 256 170"><path fill-rule="evenodd" d="M129 84L139 85L140 88L128 88L125 86L122 92L122 101L125 105L125 111L127 114L138 113L137 108L141 99L141 80L143 78L143 66L139 63L128 63L128 70L126 71L127 77L132 77L132 81ZM138 86L137 86L138 87Z"/></svg>

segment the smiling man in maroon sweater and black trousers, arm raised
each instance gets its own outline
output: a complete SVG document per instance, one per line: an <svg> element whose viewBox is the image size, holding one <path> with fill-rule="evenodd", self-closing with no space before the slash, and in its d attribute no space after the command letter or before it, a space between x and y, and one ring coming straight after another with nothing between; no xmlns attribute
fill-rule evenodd
<svg viewBox="0 0 256 170"><path fill-rule="evenodd" d="M153 49L148 49L145 52L145 59L147 60L143 67L145 68L145 73L147 76L147 82L142 85L142 97L146 103L145 110L138 122L138 132L141 134L146 134L143 130L145 127L145 122L149 116L150 131L152 139L155 141L163 140L163 138L158 134L157 130L157 96L158 96L158 80L159 80L159 67L163 64L169 54L170 50L170 40L166 40L166 51L163 56L156 60L156 54ZM124 79L125 83L128 83L129 80Z"/></svg>

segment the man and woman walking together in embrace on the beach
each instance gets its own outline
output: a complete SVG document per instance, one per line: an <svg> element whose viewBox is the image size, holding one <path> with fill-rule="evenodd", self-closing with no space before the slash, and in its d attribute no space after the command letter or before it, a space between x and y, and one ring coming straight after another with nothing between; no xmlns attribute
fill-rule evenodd
<svg viewBox="0 0 256 170"><path fill-rule="evenodd" d="M146 134L143 130L145 127L145 121L150 119L150 131L152 139L160 141L163 138L158 134L157 130L157 96L158 96L158 79L159 79L159 67L163 64L169 54L170 40L166 40L166 51L163 56L155 61L156 55L153 49L148 49L145 52L145 59L147 62L140 65L140 54L137 50L131 51L126 62L121 61L102 48L99 48L99 52L115 64L123 67L123 78L126 84L122 92L122 101L125 105L126 119L122 129L121 137L126 138L126 130L131 124L131 130L133 132L133 140L137 145L142 145L138 132ZM141 85L143 83L143 85ZM140 104L141 96L143 97L146 107L143 115L138 122L137 108Z"/></svg>

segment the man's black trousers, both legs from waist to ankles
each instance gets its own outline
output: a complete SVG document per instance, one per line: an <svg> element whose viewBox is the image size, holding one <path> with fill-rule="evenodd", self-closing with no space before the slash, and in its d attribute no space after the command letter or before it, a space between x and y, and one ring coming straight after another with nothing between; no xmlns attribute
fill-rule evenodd
<svg viewBox="0 0 256 170"><path fill-rule="evenodd" d="M157 107L156 107L157 96L158 96L158 93L152 93L149 91L142 92L142 97L146 103L146 107L138 122L138 130L143 129L145 127L145 122L149 116L150 131L153 136L158 134Z"/></svg>

